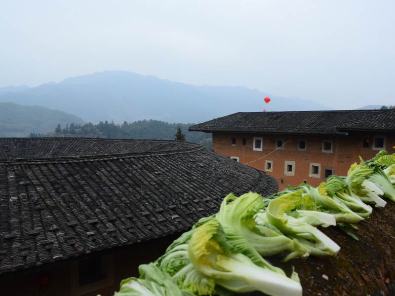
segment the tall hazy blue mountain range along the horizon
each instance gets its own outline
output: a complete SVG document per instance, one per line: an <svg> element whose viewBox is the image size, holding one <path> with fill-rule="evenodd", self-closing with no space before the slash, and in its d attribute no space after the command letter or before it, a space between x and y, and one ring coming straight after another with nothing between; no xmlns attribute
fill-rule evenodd
<svg viewBox="0 0 395 296"><path fill-rule="evenodd" d="M271 96L242 86L192 85L124 71L105 71L0 94L0 102L39 105L85 120L202 122L238 111L330 110L309 100Z"/></svg>

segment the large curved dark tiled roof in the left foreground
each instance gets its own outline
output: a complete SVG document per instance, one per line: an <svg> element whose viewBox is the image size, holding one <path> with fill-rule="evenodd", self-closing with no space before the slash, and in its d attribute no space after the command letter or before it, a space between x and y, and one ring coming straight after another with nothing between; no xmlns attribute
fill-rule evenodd
<svg viewBox="0 0 395 296"><path fill-rule="evenodd" d="M185 231L276 181L198 144L0 139L0 274Z"/></svg>

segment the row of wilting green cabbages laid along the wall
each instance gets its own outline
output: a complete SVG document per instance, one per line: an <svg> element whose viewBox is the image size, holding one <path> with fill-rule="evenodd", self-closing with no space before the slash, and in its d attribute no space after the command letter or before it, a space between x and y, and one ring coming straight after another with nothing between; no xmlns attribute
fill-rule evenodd
<svg viewBox="0 0 395 296"><path fill-rule="evenodd" d="M317 227L334 225L358 241L351 230L370 216L373 209L368 204L382 207L383 198L395 201L394 179L395 154L380 151L373 159L353 164L347 177L331 176L318 187L301 184L268 197L231 193L218 213L200 219L155 262L141 265L152 266L155 278L146 282L147 272L140 271L134 282L122 281L115 295L229 296L260 291L301 296L298 274L293 271L287 277L262 256L285 253L281 257L287 261L336 255L340 247ZM363 251L363 245L359 248ZM153 286L160 292L149 294Z"/></svg>

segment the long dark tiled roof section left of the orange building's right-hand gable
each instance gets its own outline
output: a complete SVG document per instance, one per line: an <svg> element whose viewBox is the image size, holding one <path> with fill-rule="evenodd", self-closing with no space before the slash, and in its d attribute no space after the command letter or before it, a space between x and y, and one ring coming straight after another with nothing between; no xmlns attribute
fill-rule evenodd
<svg viewBox="0 0 395 296"><path fill-rule="evenodd" d="M202 132L347 134L347 131L339 130L337 127L382 112L381 110L238 112L193 125L189 130ZM368 122L366 125L368 125Z"/></svg>

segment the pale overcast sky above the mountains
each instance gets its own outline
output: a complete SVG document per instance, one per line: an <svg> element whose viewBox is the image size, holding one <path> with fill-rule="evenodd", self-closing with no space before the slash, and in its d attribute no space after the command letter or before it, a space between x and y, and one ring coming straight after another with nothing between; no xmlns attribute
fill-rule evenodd
<svg viewBox="0 0 395 296"><path fill-rule="evenodd" d="M395 104L393 0L1 0L0 87L105 70Z"/></svg>

